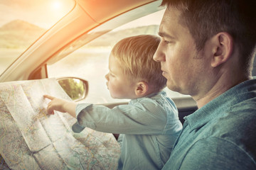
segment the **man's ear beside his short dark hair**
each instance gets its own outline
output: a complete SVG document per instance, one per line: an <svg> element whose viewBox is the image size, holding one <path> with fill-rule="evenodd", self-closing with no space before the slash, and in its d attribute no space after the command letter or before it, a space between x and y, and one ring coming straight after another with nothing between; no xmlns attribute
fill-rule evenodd
<svg viewBox="0 0 256 170"><path fill-rule="evenodd" d="M212 67L218 67L226 62L233 53L233 37L226 32L221 32L213 36L213 58L211 60Z"/></svg>

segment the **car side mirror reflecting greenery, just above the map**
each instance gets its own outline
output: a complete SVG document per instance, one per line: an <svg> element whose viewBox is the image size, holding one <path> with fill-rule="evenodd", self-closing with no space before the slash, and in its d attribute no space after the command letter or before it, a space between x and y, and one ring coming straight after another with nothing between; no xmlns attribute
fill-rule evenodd
<svg viewBox="0 0 256 170"><path fill-rule="evenodd" d="M58 83L73 101L85 99L88 94L88 81L76 77L58 78Z"/></svg>

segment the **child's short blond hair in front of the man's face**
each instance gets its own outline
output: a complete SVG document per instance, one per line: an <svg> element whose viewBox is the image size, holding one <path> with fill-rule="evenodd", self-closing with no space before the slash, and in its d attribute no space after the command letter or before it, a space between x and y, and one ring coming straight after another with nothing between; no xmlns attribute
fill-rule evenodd
<svg viewBox="0 0 256 170"><path fill-rule="evenodd" d="M161 63L153 60L160 41L156 35L137 35L120 40L112 49L112 56L122 64L124 74L146 81L157 92L166 86Z"/></svg>

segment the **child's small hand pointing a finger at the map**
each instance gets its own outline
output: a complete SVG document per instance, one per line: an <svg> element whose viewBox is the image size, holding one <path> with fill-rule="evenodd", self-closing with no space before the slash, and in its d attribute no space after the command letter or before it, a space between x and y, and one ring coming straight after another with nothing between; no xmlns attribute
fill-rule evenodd
<svg viewBox="0 0 256 170"><path fill-rule="evenodd" d="M60 111L60 112L65 112L64 110L64 105L65 103L67 103L68 101L64 101L63 99L60 98L55 98L53 96L49 96L49 95L43 95L44 98L48 98L51 101L48 103L48 107L47 107L47 112L50 115L53 115L54 112L53 111Z"/></svg>

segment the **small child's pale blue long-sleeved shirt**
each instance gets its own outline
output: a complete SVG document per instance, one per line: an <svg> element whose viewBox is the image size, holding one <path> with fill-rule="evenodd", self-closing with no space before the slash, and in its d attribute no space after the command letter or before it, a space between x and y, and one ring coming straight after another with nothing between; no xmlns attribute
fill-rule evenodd
<svg viewBox="0 0 256 170"><path fill-rule="evenodd" d="M76 115L74 132L88 127L124 134L119 136L122 143L118 169L161 169L182 129L174 101L164 91L112 109L80 103Z"/></svg>

